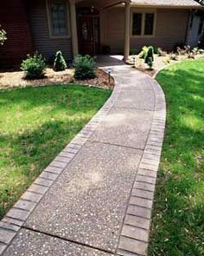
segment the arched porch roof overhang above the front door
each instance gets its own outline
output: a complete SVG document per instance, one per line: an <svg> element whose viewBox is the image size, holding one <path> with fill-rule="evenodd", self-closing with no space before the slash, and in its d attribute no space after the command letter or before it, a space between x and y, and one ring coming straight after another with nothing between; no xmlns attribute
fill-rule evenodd
<svg viewBox="0 0 204 256"><path fill-rule="evenodd" d="M120 3L131 3L131 0L75 0L75 3L84 3L104 10Z"/></svg>

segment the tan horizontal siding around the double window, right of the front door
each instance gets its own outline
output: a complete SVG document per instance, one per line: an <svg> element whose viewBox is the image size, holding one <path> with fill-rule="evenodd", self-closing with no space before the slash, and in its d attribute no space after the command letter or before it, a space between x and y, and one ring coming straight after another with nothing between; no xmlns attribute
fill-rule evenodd
<svg viewBox="0 0 204 256"><path fill-rule="evenodd" d="M137 9L139 11L139 9ZM124 10L105 10L102 18L102 43L111 47L112 53L124 50ZM156 10L156 35L154 37L131 36L131 48L140 50L143 45L173 49L175 43L185 43L188 10Z"/></svg>

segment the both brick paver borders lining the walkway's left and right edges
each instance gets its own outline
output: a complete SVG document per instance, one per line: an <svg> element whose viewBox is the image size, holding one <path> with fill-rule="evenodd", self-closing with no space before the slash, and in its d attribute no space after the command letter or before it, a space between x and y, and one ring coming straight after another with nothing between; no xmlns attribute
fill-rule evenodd
<svg viewBox="0 0 204 256"><path fill-rule="evenodd" d="M137 168L136 179L131 189L131 197L124 216L124 225L118 244L117 254L124 256L146 255L156 174L163 146L166 121L165 96L163 89L153 78L150 77L147 82L150 82L154 90L156 102L150 135ZM73 138L67 147L54 158L54 161L42 171L39 177L22 194L14 207L0 221L0 255L10 245L16 233L24 225L42 197L48 192L48 189L54 185L54 182L65 171L69 162L79 153L82 146L98 128L99 123L112 110L121 91L119 79L115 77L115 88L105 105L99 109L98 113L81 129L80 133Z"/></svg>

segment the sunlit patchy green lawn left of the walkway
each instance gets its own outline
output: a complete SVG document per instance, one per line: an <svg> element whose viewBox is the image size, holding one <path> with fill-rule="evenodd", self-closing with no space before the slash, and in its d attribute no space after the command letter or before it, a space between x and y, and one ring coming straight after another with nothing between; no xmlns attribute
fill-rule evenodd
<svg viewBox="0 0 204 256"><path fill-rule="evenodd" d="M76 84L0 91L0 219L110 95Z"/></svg>

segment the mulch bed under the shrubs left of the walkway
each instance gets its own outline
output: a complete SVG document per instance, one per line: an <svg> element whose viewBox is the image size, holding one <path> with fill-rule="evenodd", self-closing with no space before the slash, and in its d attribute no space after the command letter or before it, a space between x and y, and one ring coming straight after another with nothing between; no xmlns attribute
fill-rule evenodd
<svg viewBox="0 0 204 256"><path fill-rule="evenodd" d="M75 80L73 78L74 70L66 69L61 72L55 72L53 69L46 69L45 76L41 79L28 80L24 79L23 71L0 71L0 89L12 89L16 87L27 86L44 86L54 83L80 83L92 87L99 87L109 89L114 87L114 79L111 77L109 82L109 75L105 71L98 69L97 77L94 79Z"/></svg>

